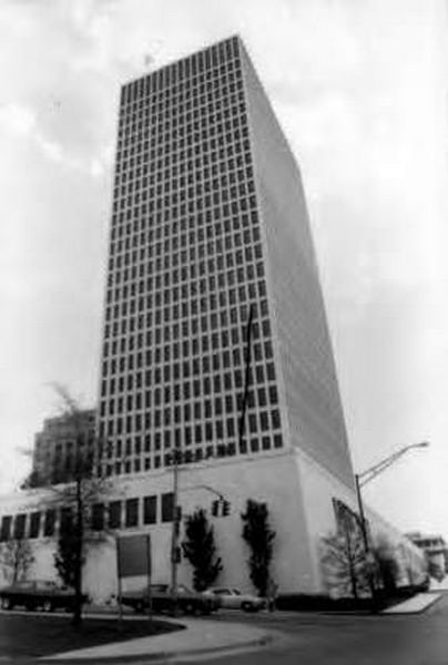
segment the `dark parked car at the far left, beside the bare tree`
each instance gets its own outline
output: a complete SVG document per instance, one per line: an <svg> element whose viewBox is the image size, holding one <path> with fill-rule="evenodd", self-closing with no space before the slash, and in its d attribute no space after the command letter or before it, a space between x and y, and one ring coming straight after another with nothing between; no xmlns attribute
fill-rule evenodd
<svg viewBox="0 0 448 665"><path fill-rule="evenodd" d="M88 597L83 595L82 600L85 602ZM41 607L44 612L72 612L74 592L49 580L23 580L0 589L0 604L3 610L20 605L27 610Z"/></svg>

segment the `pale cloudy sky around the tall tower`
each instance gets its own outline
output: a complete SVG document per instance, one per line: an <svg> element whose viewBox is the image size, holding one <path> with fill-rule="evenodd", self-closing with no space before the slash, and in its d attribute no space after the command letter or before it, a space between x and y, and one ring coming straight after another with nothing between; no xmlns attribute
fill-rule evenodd
<svg viewBox="0 0 448 665"><path fill-rule="evenodd" d="M0 0L0 492L96 400L120 84L240 33L301 166L354 468L448 536L442 0Z"/></svg>

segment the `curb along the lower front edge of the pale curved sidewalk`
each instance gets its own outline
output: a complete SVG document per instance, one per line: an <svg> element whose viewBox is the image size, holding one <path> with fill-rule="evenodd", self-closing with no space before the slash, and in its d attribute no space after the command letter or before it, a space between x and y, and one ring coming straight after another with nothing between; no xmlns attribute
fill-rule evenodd
<svg viewBox="0 0 448 665"><path fill-rule="evenodd" d="M256 640L250 640L246 642L236 642L234 644L228 644L225 646L216 646L216 647L207 647L207 648L191 648L191 649L179 649L179 651L162 651L154 653L141 653L141 654L132 654L132 655L121 655L121 656L92 656L92 657L71 657L64 658L61 656L41 656L40 658L35 658L34 661L30 661L30 663L39 663L41 665L51 664L51 665L91 665L91 664L113 664L113 663L141 663L147 661L165 661L170 662L175 658L181 657L194 657L194 656L207 656L213 654L225 654L226 652L235 652L235 649L245 649L245 648L256 648L261 646L267 646L274 641L273 635L263 635L262 637L257 637ZM14 661L11 661L11 664Z"/></svg>

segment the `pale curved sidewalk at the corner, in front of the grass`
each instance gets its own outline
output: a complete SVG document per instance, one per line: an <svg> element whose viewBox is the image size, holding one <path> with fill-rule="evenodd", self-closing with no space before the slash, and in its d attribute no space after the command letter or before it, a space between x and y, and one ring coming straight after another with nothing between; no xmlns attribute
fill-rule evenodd
<svg viewBox="0 0 448 665"><path fill-rule="evenodd" d="M176 656L197 656L213 652L232 652L268 644L272 640L272 631L254 626L218 623L207 620L184 620L181 623L186 631L156 635L155 637L140 637L114 644L103 644L91 648L77 649L45 656L41 661L62 665L62 663L88 662L104 663L111 659L120 662L166 659Z"/></svg>

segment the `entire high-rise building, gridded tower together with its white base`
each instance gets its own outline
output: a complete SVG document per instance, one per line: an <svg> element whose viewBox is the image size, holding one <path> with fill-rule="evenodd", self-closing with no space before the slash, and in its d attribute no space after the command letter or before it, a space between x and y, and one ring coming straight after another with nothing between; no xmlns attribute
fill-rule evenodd
<svg viewBox="0 0 448 665"><path fill-rule="evenodd" d="M256 501L279 591L328 591L326 536L358 524L344 416L301 175L240 38L123 86L106 280L98 529L150 533L153 581L191 583L176 498L213 523L218 583L250 591L241 515ZM401 583L421 581L421 552L366 516L401 552ZM32 539L35 576L54 574L62 513L33 490L0 518L0 541ZM93 541L101 600L116 539Z"/></svg>

